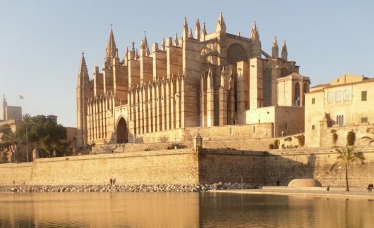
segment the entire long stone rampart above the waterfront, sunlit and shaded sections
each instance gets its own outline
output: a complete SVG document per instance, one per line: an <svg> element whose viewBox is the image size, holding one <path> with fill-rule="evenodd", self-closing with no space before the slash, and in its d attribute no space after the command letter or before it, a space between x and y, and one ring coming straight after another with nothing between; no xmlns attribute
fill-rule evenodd
<svg viewBox="0 0 374 228"><path fill-rule="evenodd" d="M374 148L363 151L365 165L353 163L349 169L352 186L374 183ZM332 148L248 151L234 148L191 148L97 154L61 158L41 158L34 163L0 164L0 185L88 185L108 184L212 184L238 182L251 185L287 185L295 178L315 178L322 185L344 185L344 167L336 162Z"/></svg>

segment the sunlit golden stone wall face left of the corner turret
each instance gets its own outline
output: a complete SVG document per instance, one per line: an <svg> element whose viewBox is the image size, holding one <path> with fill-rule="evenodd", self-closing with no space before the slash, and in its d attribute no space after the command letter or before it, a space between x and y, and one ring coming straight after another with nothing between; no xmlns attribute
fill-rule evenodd
<svg viewBox="0 0 374 228"><path fill-rule="evenodd" d="M116 184L197 184L198 155L183 149L41 158L0 170L0 184L108 184L110 178Z"/></svg>

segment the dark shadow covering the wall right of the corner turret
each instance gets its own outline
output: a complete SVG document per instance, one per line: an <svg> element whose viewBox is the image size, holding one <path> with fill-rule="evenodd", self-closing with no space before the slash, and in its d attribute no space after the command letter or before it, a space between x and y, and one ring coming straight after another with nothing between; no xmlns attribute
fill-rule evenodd
<svg viewBox="0 0 374 228"><path fill-rule="evenodd" d="M286 186L292 179L313 178L314 154L306 163L284 158L266 151L244 151L233 148L208 149L199 153L199 182L237 182L253 185Z"/></svg>

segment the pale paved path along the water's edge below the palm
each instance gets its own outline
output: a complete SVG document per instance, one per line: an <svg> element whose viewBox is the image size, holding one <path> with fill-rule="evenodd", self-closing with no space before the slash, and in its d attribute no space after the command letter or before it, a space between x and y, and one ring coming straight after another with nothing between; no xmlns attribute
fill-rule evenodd
<svg viewBox="0 0 374 228"><path fill-rule="evenodd" d="M344 191L344 188L286 188L286 187L264 187L263 189L230 189L211 190L210 192L230 194L266 194L266 195L287 195L287 196L314 196L314 197L340 197L340 198L363 198L374 200L374 192L363 191L361 188L352 188L351 191Z"/></svg>

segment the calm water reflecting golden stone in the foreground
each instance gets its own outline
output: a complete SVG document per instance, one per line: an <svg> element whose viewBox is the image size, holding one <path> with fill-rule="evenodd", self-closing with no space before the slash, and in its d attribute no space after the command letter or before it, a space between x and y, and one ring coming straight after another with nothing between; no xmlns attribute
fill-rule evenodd
<svg viewBox="0 0 374 228"><path fill-rule="evenodd" d="M0 194L0 227L374 227L374 201L195 193Z"/></svg>

